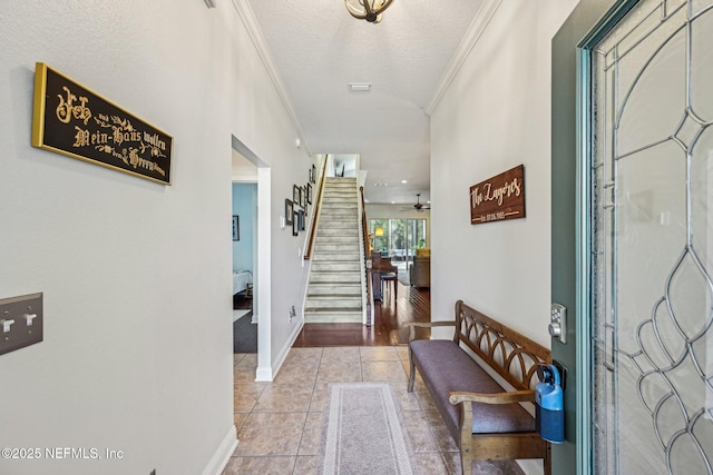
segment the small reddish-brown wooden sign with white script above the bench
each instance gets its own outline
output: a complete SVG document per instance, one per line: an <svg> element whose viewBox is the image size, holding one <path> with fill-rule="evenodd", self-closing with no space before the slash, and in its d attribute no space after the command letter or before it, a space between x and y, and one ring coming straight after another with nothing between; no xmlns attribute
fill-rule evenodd
<svg viewBox="0 0 713 475"><path fill-rule="evenodd" d="M470 224L525 217L525 166L470 187Z"/></svg>

